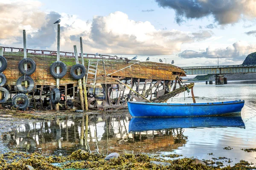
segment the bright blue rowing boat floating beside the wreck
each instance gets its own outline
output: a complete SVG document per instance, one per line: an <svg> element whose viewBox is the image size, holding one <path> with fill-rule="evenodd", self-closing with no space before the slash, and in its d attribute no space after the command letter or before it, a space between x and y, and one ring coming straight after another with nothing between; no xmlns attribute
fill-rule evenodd
<svg viewBox="0 0 256 170"><path fill-rule="evenodd" d="M223 116L240 114L243 107L244 100L189 104L128 102L133 117Z"/></svg>

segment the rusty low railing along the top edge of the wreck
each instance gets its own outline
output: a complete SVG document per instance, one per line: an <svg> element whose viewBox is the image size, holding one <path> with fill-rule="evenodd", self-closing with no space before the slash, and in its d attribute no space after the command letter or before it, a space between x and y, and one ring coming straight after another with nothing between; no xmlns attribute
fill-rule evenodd
<svg viewBox="0 0 256 170"><path fill-rule="evenodd" d="M23 52L23 48L15 48L15 47L1 47L3 48L4 52ZM32 54L44 54L44 55L57 55L57 51L50 51L50 50L33 50L33 49L26 49L27 53ZM66 52L66 51L60 51L61 56L67 56L67 57L75 57L73 52ZM79 53L81 57L81 53ZM95 56L95 54L85 54L84 57L95 57L95 58L101 58L99 55ZM111 55L102 55L102 57L113 59L118 59L117 56L111 56Z"/></svg>

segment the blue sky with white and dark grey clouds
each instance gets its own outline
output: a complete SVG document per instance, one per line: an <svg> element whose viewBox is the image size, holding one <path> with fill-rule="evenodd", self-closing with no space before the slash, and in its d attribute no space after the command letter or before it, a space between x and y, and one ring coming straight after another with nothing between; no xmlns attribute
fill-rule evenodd
<svg viewBox="0 0 256 170"><path fill-rule="evenodd" d="M61 51L177 66L236 65L256 51L256 0L0 0L0 46Z"/></svg>

